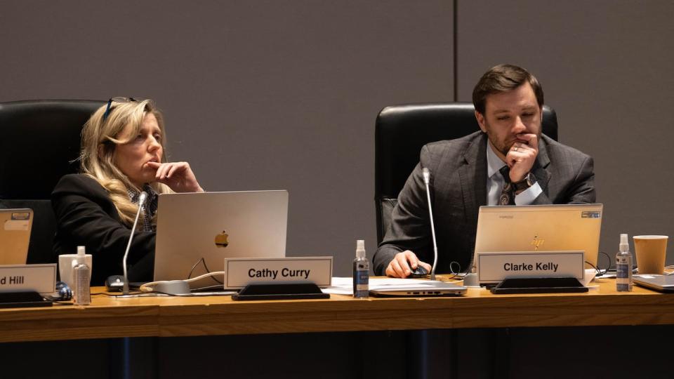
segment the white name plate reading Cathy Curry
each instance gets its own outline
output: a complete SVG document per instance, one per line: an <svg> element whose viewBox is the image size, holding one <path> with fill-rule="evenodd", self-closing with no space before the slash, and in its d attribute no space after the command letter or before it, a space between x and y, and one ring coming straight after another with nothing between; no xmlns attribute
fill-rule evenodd
<svg viewBox="0 0 674 379"><path fill-rule="evenodd" d="M225 258L225 289L302 282L329 287L331 280L332 257Z"/></svg>

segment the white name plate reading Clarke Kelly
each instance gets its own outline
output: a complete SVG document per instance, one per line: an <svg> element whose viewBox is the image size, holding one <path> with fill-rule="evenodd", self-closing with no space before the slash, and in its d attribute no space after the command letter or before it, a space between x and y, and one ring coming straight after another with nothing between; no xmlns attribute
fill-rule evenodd
<svg viewBox="0 0 674 379"><path fill-rule="evenodd" d="M480 284L505 278L571 277L585 279L584 251L495 251L477 253Z"/></svg>

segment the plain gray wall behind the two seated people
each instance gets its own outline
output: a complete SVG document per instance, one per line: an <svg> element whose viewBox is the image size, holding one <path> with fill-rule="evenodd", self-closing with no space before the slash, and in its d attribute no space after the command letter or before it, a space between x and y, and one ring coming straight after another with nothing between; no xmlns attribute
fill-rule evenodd
<svg viewBox="0 0 674 379"><path fill-rule="evenodd" d="M288 255L348 276L355 240L376 248L378 111L469 101L511 62L595 157L613 254L620 232L674 234L673 19L671 1L4 1L0 101L154 98L172 160L209 190L288 189Z"/></svg>

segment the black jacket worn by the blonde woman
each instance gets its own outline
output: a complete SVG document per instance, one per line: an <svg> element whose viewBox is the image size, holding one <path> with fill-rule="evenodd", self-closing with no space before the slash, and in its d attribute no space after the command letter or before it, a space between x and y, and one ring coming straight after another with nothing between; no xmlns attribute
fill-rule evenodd
<svg viewBox="0 0 674 379"><path fill-rule="evenodd" d="M56 254L77 253L77 246L86 246L93 258L94 286L102 286L110 275L124 273L121 260L131 228L121 222L103 186L87 175L65 175L51 194L51 206L56 216ZM139 230L133 234L126 258L129 281L152 280L155 236L155 232Z"/></svg>

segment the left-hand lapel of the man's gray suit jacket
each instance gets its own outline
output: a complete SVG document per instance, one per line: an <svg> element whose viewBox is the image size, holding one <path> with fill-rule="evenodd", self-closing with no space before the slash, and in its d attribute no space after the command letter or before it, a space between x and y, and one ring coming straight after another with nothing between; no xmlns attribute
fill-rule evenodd
<svg viewBox="0 0 674 379"><path fill-rule="evenodd" d="M487 137L480 133L463 154L458 169L468 225L477 223L480 206L487 204Z"/></svg>

